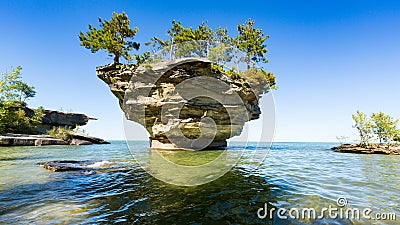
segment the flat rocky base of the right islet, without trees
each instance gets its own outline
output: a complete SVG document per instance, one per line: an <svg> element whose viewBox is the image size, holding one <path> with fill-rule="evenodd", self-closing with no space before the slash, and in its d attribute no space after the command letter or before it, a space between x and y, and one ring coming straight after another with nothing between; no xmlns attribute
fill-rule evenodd
<svg viewBox="0 0 400 225"><path fill-rule="evenodd" d="M387 145L371 145L365 148L360 144L341 144L331 149L342 153L400 155L400 146L390 146L389 148Z"/></svg>

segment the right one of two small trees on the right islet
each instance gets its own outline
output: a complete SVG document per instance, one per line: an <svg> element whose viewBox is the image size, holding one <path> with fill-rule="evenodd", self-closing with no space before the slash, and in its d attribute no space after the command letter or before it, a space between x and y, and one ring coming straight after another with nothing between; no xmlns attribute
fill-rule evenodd
<svg viewBox="0 0 400 225"><path fill-rule="evenodd" d="M398 135L397 123L398 119L384 114L383 112L372 113L373 131L379 139L379 143L383 141L390 144Z"/></svg>

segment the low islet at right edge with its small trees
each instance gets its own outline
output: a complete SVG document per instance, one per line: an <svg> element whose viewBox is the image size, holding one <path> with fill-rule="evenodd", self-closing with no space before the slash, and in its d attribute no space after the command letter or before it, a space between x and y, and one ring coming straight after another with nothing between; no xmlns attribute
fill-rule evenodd
<svg viewBox="0 0 400 225"><path fill-rule="evenodd" d="M383 112L372 113L368 117L360 111L353 114L352 118L355 122L353 127L358 131L360 142L341 144L333 147L332 150L345 153L400 155L398 119Z"/></svg>

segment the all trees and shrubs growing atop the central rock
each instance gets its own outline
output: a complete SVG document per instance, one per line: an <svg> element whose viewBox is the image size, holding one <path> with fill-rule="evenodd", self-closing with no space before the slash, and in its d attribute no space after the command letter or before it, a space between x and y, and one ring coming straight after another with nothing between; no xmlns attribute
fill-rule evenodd
<svg viewBox="0 0 400 225"><path fill-rule="evenodd" d="M257 92L266 93L271 89L276 89L275 76L263 69L255 68L258 62L268 62L265 54L267 48L264 42L269 38L264 35L261 29L254 28L254 20L247 20L237 26L238 36L232 38L228 35L226 28L218 27L211 29L207 22L202 22L195 29L184 27L180 21L172 21L171 27L167 30L169 40L153 37L145 43L152 47L153 55L147 51L136 54L133 57L129 51L139 48L139 44L127 39L133 39L137 28L129 28L130 21L125 13L113 13L110 21L99 19L101 29L93 28L89 25L89 31L84 34L80 32L79 39L81 45L96 52L104 49L114 55L114 62L119 62L119 57L123 56L127 60L134 59L136 64L144 64L150 68L150 63L162 60L167 54L170 59L181 57L207 57L215 64L214 70L225 73L234 79L241 79L255 87ZM236 64L240 61L247 63L247 70L240 72L238 68L224 69L225 64L234 58L234 48L243 51L246 56L236 59ZM162 50L160 56L155 53ZM154 55L155 54L155 55Z"/></svg>

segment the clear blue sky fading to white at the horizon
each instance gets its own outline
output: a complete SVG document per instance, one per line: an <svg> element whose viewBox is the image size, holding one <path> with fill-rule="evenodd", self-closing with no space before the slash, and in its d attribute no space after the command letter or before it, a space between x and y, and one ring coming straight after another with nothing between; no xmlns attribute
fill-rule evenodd
<svg viewBox="0 0 400 225"><path fill-rule="evenodd" d="M123 139L122 114L95 67L112 61L79 46L97 18L126 12L136 41L165 37L171 20L227 27L246 19L271 36L267 69L277 77L276 141L354 139L351 114L384 111L400 118L400 1L0 1L0 71L23 67L36 87L32 107L83 112L84 127ZM266 115L267 116L267 115ZM251 131L261 129L251 123ZM138 139L146 139L137 127Z"/></svg>

